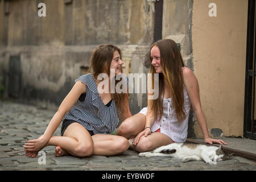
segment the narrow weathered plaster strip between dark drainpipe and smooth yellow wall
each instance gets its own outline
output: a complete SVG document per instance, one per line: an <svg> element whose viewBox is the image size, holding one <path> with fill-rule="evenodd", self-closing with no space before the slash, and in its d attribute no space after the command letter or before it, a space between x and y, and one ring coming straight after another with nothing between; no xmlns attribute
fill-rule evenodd
<svg viewBox="0 0 256 182"><path fill-rule="evenodd" d="M164 1L163 39L180 43L184 63L193 70L192 61L192 6L191 0Z"/></svg>

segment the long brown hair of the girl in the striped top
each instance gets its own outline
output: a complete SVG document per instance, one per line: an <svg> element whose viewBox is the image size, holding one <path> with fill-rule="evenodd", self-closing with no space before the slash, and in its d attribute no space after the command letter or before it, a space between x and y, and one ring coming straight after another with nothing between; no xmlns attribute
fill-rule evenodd
<svg viewBox="0 0 256 182"><path fill-rule="evenodd" d="M113 59L114 51L118 51L120 55L120 59L122 59L121 49L119 49L118 47L112 44L101 44L100 46L96 47L93 50L88 72L92 73L92 75L96 80L98 75L100 75L100 73L107 72L108 76L110 76L110 64ZM115 81L115 85L118 82L119 81ZM121 118L121 113L125 112L128 109L127 108L128 94L115 92L115 93L111 93L111 97L115 102L115 106L117 108L117 114L119 118Z"/></svg>

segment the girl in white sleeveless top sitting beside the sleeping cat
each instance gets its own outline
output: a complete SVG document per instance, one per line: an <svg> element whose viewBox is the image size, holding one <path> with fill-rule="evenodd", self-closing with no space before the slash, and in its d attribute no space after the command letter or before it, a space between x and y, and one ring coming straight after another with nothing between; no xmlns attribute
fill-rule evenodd
<svg viewBox="0 0 256 182"><path fill-rule="evenodd" d="M192 105L205 143L226 144L209 137L197 79L189 68L184 67L174 40L163 39L152 44L150 61L150 73L159 74L158 83L154 83L154 86L159 86L159 97L151 100L148 94L148 107L123 121L117 135L130 139L130 148L138 152L151 151L173 142L185 142Z"/></svg>

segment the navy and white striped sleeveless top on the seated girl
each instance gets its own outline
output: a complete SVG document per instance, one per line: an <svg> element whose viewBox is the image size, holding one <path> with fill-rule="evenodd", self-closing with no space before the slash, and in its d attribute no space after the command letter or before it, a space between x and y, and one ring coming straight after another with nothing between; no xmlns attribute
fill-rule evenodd
<svg viewBox="0 0 256 182"><path fill-rule="evenodd" d="M75 105L64 115L64 119L71 119L80 123L86 130L94 134L112 134L119 123L114 101L109 106L104 105L93 75L82 75L76 81L86 85L84 99L76 101Z"/></svg>

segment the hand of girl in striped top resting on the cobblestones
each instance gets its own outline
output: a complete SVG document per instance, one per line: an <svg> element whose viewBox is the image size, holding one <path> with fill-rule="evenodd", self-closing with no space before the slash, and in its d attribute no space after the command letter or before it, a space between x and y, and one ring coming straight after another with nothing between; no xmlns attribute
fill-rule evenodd
<svg viewBox="0 0 256 182"><path fill-rule="evenodd" d="M38 139L28 140L23 147L27 156L35 157L42 148L47 146L47 144L48 140L41 135Z"/></svg>

